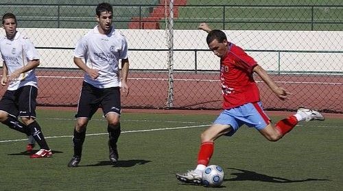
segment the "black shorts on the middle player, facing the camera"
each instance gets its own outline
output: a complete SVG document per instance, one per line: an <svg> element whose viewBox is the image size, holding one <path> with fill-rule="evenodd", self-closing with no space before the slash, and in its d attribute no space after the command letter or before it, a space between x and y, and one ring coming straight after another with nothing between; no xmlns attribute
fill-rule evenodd
<svg viewBox="0 0 343 191"><path fill-rule="evenodd" d="M78 103L78 114L75 117L91 119L98 108L102 108L104 115L108 112L115 112L120 115L120 88L95 88L84 81Z"/></svg>

